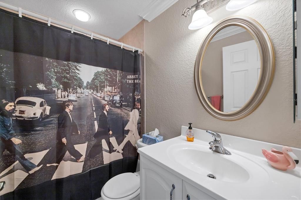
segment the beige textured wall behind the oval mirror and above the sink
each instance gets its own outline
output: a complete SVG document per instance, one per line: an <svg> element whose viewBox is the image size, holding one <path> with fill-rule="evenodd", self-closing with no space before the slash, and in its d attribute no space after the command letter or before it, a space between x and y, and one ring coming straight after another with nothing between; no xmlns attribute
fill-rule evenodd
<svg viewBox="0 0 301 200"><path fill-rule="evenodd" d="M301 123L293 123L292 1L257 1L238 11L225 6L209 14L213 23L189 30L183 8L195 1L178 1L150 23L145 22L146 132L158 128L164 140L180 135L181 126L301 147ZM198 48L216 23L244 15L257 20L270 35L276 57L275 76L260 106L237 121L212 117L201 105L194 87L194 61Z"/></svg>

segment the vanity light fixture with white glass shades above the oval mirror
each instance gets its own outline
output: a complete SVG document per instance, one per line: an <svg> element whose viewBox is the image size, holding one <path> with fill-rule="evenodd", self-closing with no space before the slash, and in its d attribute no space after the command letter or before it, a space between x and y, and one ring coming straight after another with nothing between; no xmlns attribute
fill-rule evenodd
<svg viewBox="0 0 301 200"><path fill-rule="evenodd" d="M184 8L182 12L182 16L184 17L188 17L191 14L191 12L194 11L188 29L190 30L200 29L209 25L213 21L212 17L209 17L206 11L203 10L203 4L210 1L213 0L197 0L197 3L191 6L191 8L188 7ZM226 6L226 10L228 11L239 10L241 8L247 7L248 5L253 4L256 1L257 0L231 0L228 2Z"/></svg>

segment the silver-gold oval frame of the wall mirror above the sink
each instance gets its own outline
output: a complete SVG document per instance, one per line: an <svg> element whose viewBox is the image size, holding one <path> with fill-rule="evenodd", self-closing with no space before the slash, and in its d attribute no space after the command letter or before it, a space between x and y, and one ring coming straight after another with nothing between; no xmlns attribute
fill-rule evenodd
<svg viewBox="0 0 301 200"><path fill-rule="evenodd" d="M253 36L259 48L261 66L259 81L251 98L242 108L235 112L229 113L221 112L211 105L204 92L201 79L202 62L206 49L214 35L216 35L217 32L227 26L240 26L246 29ZM210 115L221 120L233 121L244 118L245 116L251 114L260 105L272 84L274 72L275 53L272 41L268 36L268 33L256 20L245 16L234 16L228 17L219 22L209 32L209 34L205 37L202 44L200 45L194 65L194 85L200 102Z"/></svg>

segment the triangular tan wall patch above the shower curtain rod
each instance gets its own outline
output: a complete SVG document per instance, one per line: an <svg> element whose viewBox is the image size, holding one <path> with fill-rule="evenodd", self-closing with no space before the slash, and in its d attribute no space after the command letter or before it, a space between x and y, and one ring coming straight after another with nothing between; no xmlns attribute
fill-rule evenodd
<svg viewBox="0 0 301 200"><path fill-rule="evenodd" d="M134 28L123 35L118 41L140 49L144 49L144 21L139 22Z"/></svg>

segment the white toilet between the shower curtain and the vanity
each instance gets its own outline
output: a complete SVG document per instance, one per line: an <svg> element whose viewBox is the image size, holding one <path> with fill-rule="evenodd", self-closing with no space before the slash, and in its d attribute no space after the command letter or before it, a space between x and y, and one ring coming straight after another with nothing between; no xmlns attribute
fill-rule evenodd
<svg viewBox="0 0 301 200"><path fill-rule="evenodd" d="M137 141L138 148L148 146L142 143L142 138ZM139 171L139 160L137 171ZM101 189L103 200L138 200L140 199L139 172L119 174L110 180Z"/></svg>

